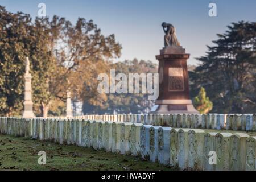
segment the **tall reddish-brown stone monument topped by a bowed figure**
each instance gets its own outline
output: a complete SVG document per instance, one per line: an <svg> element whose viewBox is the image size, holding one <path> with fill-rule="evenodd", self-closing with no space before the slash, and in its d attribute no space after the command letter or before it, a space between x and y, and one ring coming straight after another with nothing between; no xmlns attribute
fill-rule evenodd
<svg viewBox="0 0 256 182"><path fill-rule="evenodd" d="M189 98L187 59L189 54L180 46L175 27L162 23L164 48L160 50L159 60L159 97L152 113L199 113Z"/></svg>

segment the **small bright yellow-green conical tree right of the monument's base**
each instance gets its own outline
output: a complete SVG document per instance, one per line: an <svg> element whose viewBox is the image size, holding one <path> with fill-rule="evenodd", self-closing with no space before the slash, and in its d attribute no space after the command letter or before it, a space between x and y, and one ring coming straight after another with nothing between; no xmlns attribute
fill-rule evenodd
<svg viewBox="0 0 256 182"><path fill-rule="evenodd" d="M209 97L206 96L205 89L200 88L199 94L193 99L193 105L201 114L209 113L212 110L213 104Z"/></svg>

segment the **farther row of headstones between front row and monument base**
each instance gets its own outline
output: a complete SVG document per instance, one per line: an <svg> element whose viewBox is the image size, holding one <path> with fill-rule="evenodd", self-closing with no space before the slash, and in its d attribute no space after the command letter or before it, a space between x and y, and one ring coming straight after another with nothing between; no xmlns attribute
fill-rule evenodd
<svg viewBox="0 0 256 182"><path fill-rule="evenodd" d="M116 114L53 117L52 119L90 119L192 129L256 131L256 114Z"/></svg>

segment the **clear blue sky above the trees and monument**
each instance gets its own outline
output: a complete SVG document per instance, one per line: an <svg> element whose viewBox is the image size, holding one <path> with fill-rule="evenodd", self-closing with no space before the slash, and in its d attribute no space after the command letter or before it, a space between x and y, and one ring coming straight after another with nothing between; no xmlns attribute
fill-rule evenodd
<svg viewBox="0 0 256 182"><path fill-rule="evenodd" d="M7 10L23 11L35 17L38 3L46 3L47 15L64 16L75 23L78 17L93 19L103 34L115 34L122 44L119 60L152 60L163 47L162 22L174 24L177 38L191 59L188 64L196 64L195 57L207 51L217 33L223 33L226 26L238 20L256 20L255 0L1 0L0 5ZM217 17L208 16L210 2L217 4Z"/></svg>

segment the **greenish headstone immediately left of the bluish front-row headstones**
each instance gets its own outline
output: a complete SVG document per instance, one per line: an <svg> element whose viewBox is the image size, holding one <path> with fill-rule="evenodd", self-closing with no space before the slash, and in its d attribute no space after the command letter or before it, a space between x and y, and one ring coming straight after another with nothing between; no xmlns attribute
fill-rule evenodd
<svg viewBox="0 0 256 182"><path fill-rule="evenodd" d="M133 125L131 125L129 148L131 155L134 156L137 156L141 153L141 147L139 146L141 140L141 126L141 123L133 123Z"/></svg>

